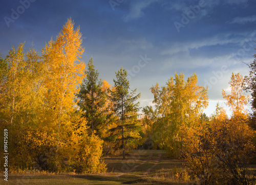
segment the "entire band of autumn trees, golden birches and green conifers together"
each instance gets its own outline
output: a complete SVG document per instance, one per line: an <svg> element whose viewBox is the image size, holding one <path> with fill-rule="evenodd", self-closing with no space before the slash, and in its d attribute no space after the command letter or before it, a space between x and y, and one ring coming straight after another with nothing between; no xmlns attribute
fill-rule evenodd
<svg viewBox="0 0 256 185"><path fill-rule="evenodd" d="M196 73L152 85L154 106L140 108L124 68L106 82L93 58L84 65L81 37L70 18L40 52L20 43L0 58L0 146L8 149L9 173L104 173L103 156L125 160L133 149L154 149L184 160L200 184L255 182L247 165L256 163L256 59L248 76L232 73L231 93L222 91L231 116L220 104L204 113L207 87ZM0 165L5 170L3 157Z"/></svg>

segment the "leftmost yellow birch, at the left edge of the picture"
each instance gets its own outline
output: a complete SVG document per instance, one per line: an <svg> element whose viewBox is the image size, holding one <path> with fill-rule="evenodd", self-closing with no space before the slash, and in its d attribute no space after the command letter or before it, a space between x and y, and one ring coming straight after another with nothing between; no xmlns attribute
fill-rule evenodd
<svg viewBox="0 0 256 185"><path fill-rule="evenodd" d="M0 122L2 128L9 130L9 149L15 156L10 158L10 164L26 168L33 157L25 137L27 131L34 129L38 123L44 91L40 86L39 56L34 49L26 53L24 43L21 43L17 48L12 47L6 58L1 60L0 70Z"/></svg>

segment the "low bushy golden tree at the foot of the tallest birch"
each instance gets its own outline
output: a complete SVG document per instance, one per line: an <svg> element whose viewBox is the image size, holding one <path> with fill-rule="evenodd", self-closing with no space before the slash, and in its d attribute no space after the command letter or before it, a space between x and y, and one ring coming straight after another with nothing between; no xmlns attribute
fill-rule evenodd
<svg viewBox="0 0 256 185"><path fill-rule="evenodd" d="M76 173L104 172L106 168L101 158L103 141L88 131L87 119L81 114L81 111L75 114L70 142L65 148L69 152L69 168L72 167Z"/></svg>

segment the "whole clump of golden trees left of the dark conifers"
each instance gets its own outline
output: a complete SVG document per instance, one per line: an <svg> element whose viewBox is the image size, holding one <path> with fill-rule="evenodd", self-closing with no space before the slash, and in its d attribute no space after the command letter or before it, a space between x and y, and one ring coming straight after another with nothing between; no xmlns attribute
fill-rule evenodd
<svg viewBox="0 0 256 185"><path fill-rule="evenodd" d="M68 19L41 56L33 48L25 52L22 43L0 59L0 127L8 129L11 171L105 170L102 141L88 135L74 101L84 77L81 41Z"/></svg>

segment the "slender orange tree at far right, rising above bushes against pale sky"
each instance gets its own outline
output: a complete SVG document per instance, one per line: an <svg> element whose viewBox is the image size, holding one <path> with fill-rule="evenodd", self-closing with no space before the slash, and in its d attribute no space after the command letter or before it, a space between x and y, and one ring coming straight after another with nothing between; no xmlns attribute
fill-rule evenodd
<svg viewBox="0 0 256 185"><path fill-rule="evenodd" d="M230 94L227 95L223 90L222 95L232 111L232 117L227 124L227 136L230 137L230 140L228 144L225 143L225 147L228 147L232 155L220 160L238 183L247 184L246 164L250 161L255 150L252 142L255 133L249 127L249 114L245 108L249 96L243 92L243 76L240 73L232 73L229 85L231 87Z"/></svg>

